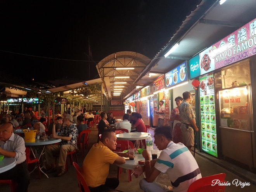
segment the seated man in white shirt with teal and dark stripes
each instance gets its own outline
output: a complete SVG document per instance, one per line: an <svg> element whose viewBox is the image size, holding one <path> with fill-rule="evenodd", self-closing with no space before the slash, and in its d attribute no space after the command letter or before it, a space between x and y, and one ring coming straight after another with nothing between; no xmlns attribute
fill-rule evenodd
<svg viewBox="0 0 256 192"><path fill-rule="evenodd" d="M157 127L154 138L154 143L162 152L158 159L151 162L149 152L142 152L145 166L137 166L134 172L135 177L138 177L145 171L146 178L140 180L140 188L147 192L166 192L171 189L173 192L187 191L191 183L202 177L195 158L185 145L173 143L170 126ZM161 172L168 175L172 187L154 182Z"/></svg>

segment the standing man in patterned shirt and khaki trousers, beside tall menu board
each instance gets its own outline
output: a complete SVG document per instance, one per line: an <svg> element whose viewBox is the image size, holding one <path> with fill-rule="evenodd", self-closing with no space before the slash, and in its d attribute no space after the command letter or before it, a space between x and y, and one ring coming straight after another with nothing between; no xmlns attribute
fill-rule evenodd
<svg viewBox="0 0 256 192"><path fill-rule="evenodd" d="M180 104L180 130L182 131L183 139L182 143L191 150L191 146L194 146L194 130L198 131L197 126L195 125L195 114L192 109L190 101L192 99L190 92L184 92L183 102Z"/></svg>

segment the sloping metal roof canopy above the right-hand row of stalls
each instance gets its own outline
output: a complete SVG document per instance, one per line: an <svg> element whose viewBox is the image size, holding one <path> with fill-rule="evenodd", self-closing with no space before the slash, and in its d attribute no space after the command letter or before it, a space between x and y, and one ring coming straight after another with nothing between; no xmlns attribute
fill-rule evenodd
<svg viewBox="0 0 256 192"><path fill-rule="evenodd" d="M161 75L174 69L256 17L255 0L227 0L222 5L219 2L220 0L202 0L182 22L166 46L138 75L134 84L140 85L148 73ZM178 48L164 58L176 43L180 43ZM152 82L149 81L147 85L150 83ZM136 90L126 92L124 99L135 92Z"/></svg>

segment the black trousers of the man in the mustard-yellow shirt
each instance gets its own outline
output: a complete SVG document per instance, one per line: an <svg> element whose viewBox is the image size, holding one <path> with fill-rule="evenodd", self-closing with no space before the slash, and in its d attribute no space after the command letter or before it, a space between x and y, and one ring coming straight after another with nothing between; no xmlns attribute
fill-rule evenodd
<svg viewBox="0 0 256 192"><path fill-rule="evenodd" d="M116 187L119 185L119 180L116 177L107 178L105 185L100 185L98 187L89 187L90 192L121 192L117 190Z"/></svg>

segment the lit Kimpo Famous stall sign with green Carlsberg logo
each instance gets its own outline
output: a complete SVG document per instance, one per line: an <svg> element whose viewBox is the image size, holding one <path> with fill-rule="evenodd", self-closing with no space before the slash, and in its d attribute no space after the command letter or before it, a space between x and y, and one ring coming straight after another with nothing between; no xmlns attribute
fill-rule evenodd
<svg viewBox="0 0 256 192"><path fill-rule="evenodd" d="M256 55L256 19L189 60L190 78Z"/></svg>

